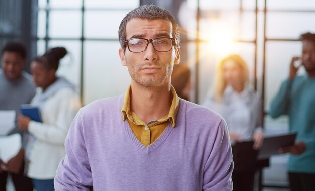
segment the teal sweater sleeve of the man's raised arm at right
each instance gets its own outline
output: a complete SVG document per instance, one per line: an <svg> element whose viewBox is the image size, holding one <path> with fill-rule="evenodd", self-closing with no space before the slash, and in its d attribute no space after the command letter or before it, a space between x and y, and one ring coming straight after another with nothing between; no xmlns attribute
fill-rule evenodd
<svg viewBox="0 0 315 191"><path fill-rule="evenodd" d="M272 118L279 117L283 114L288 114L288 93L290 93L291 85L292 80L290 79L284 81L281 84L278 93L270 104L269 114Z"/></svg>

